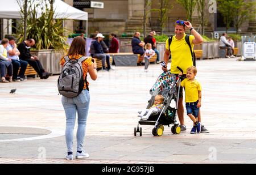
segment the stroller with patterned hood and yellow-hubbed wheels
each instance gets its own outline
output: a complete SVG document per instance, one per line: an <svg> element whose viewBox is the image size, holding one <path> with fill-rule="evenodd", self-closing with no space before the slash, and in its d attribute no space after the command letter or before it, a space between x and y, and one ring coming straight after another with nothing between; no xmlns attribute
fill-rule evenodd
<svg viewBox="0 0 256 175"><path fill-rule="evenodd" d="M177 68L183 72L180 67ZM142 127L139 127L139 125L154 125L154 128L152 129L152 134L154 136L163 135L163 125L168 125L168 127L170 127L170 125L174 125L171 127L171 132L173 134L180 134L181 128L179 123L176 121L180 91L180 88L178 88L178 92L176 90L178 82L180 87L181 76L176 80L176 76L171 74L170 71L163 72L159 75L154 86L150 89L151 99L148 101L147 109L154 104L155 96L159 94L164 96L163 106L159 112L151 113L147 120L140 119L138 126L134 127L134 136L136 136L137 133L142 136ZM170 106L172 100L176 102L174 108Z"/></svg>

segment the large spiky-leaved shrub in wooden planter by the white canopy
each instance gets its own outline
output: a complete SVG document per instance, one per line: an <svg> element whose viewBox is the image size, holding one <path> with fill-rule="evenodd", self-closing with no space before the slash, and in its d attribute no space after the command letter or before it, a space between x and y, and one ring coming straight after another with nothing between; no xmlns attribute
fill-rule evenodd
<svg viewBox="0 0 256 175"><path fill-rule="evenodd" d="M23 14L23 18L17 28L16 37L18 37L19 42L22 42L25 30L27 39L35 40L35 48L31 49L31 54L38 56L48 72L59 74L61 71L59 59L68 48L67 39L64 36L66 29L63 28L62 19L53 19L54 10L52 5L54 0L36 2L38 3L28 2L27 19L24 19L25 11L20 4L20 12ZM40 16L38 11L42 11ZM24 20L27 21L26 28L24 27Z"/></svg>

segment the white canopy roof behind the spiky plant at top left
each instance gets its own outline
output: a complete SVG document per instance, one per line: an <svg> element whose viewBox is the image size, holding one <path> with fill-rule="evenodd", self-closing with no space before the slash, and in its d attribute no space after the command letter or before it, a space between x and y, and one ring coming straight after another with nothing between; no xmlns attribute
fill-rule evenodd
<svg viewBox="0 0 256 175"><path fill-rule="evenodd" d="M76 19L76 20L88 20L88 13L81 11L75 7L69 6L67 3L61 0L55 0L53 4L55 10L55 19ZM0 18L5 19L20 19L20 7L16 0L7 0L5 3L1 3L0 6Z"/></svg>

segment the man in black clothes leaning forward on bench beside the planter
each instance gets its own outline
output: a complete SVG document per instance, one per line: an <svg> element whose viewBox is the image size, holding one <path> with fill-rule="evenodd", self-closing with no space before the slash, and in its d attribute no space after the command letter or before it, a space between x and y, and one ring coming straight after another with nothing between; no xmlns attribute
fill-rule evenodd
<svg viewBox="0 0 256 175"><path fill-rule="evenodd" d="M46 70L43 69L43 66L41 62L39 61L38 57L32 56L30 54L30 48L31 46L35 45L34 39L28 39L25 41L22 41L22 43L19 44L18 49L20 52L19 58L27 61L30 66L32 66L35 71L40 76L40 79L47 79L50 75L50 73L46 72Z"/></svg>

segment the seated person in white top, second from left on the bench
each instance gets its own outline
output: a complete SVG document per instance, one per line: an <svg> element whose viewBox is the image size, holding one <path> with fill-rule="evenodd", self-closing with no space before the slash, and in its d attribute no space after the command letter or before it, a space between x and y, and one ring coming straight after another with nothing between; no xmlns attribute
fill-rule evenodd
<svg viewBox="0 0 256 175"><path fill-rule="evenodd" d="M27 62L19 59L19 50L17 49L17 45L15 43L15 37L9 36L9 44L6 47L7 50L7 58L11 58L11 63L13 64L13 80L14 82L24 81L26 80L24 74L27 69ZM20 68L20 70L19 70ZM19 75L18 75L19 72ZM19 76L19 79L18 79Z"/></svg>

